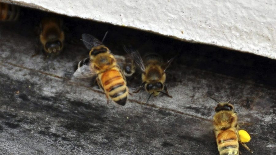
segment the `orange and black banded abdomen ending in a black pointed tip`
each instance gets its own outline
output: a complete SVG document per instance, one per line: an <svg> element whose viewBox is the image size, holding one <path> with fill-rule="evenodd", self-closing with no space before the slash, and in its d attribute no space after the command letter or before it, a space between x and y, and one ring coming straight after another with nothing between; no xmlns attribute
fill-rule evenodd
<svg viewBox="0 0 276 155"><path fill-rule="evenodd" d="M99 75L105 93L116 103L124 106L128 98L128 87L117 67Z"/></svg>

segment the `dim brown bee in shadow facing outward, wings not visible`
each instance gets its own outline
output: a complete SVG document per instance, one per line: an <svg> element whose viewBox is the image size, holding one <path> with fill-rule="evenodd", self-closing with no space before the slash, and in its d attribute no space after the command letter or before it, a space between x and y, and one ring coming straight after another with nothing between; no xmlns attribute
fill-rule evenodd
<svg viewBox="0 0 276 155"><path fill-rule="evenodd" d="M59 55L64 47L64 32L62 29L62 20L54 17L46 17L40 23L40 35L36 56L40 51L46 56Z"/></svg>

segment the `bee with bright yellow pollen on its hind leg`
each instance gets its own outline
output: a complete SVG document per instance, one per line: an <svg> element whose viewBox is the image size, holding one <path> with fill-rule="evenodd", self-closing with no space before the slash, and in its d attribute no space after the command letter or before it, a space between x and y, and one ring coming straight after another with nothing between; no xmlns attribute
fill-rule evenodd
<svg viewBox="0 0 276 155"><path fill-rule="evenodd" d="M229 102L218 103L219 104L215 109L216 114L213 118L213 131L217 140L217 148L220 155L239 155L239 142L248 151L253 153L248 146L240 140L240 135L238 133L239 126L245 124L237 123L238 117L234 111L233 105Z"/></svg>

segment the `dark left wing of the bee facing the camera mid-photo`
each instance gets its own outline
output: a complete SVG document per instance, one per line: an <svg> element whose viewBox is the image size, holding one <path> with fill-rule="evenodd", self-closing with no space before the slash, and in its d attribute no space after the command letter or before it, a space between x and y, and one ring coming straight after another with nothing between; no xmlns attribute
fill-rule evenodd
<svg viewBox="0 0 276 155"><path fill-rule="evenodd" d="M141 71L145 72L146 70L145 65L141 58L140 53L136 49L132 48L131 46L129 46L129 48L124 46L124 49L125 49L125 52L127 52L128 55L131 57L131 59L138 65Z"/></svg>

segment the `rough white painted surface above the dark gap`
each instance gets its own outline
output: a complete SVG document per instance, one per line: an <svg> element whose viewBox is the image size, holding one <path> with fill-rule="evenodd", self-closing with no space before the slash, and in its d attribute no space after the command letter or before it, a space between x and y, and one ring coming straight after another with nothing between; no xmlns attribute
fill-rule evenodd
<svg viewBox="0 0 276 155"><path fill-rule="evenodd" d="M0 0L276 59L275 0Z"/></svg>

